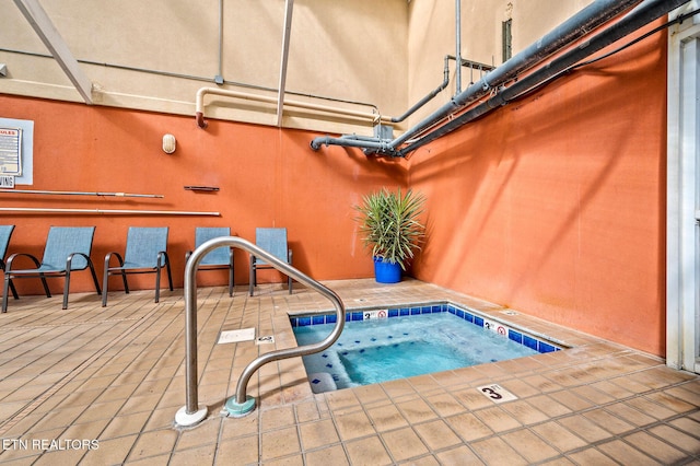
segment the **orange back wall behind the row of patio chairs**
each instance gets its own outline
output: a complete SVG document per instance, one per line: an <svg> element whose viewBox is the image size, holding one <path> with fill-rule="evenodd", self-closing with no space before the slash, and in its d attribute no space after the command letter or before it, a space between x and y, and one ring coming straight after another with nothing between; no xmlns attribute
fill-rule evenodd
<svg viewBox="0 0 700 466"><path fill-rule="evenodd" d="M231 226L254 241L256 226L285 226L293 263L317 279L369 277L372 265L357 234L352 205L386 184L405 185L399 163L369 160L358 151L327 156L308 148L304 131L192 117L90 107L0 95L0 116L34 120L34 184L16 189L164 195L163 199L2 195L0 205L31 208L135 209L220 212L220 217L143 214L19 214L0 212L0 223L16 224L9 254L42 257L50 225L95 225L93 260L102 273L107 252L124 253L127 229L170 226L168 254L176 287L183 284L185 253L195 226ZM177 139L165 154L162 137ZM218 193L185 190L217 186ZM235 253L236 283L248 282L248 257ZM260 280L279 281L273 271ZM100 276L102 279L102 276ZM226 273L200 273L198 283L225 283ZM153 276L130 276L130 287L153 288ZM51 290L60 293L61 280ZM38 280L18 280L20 293L40 293ZM86 272L71 277L72 291L90 291ZM121 289L118 277L110 290ZM11 305L12 303L10 303Z"/></svg>

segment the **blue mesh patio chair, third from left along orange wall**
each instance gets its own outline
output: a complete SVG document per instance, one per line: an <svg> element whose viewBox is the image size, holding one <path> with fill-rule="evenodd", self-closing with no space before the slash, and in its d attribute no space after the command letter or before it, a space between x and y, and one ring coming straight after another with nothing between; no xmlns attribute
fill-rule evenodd
<svg viewBox="0 0 700 466"><path fill-rule="evenodd" d="M107 284L109 276L120 275L124 281L124 291L129 292L127 275L129 273L155 273L155 302L161 298L161 270L167 271L167 281L173 291L173 275L171 261L167 258L167 226L129 226L127 233L127 247L124 258L119 253L105 255L105 269L102 280L102 306L107 305ZM118 265L109 266L112 257L116 257Z"/></svg>

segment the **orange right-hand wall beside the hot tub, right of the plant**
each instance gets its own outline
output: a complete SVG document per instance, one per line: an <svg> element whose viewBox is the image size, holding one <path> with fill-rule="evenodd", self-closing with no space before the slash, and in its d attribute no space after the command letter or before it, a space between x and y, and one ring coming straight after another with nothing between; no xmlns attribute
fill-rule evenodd
<svg viewBox="0 0 700 466"><path fill-rule="evenodd" d="M663 35L419 149L418 278L665 353Z"/></svg>

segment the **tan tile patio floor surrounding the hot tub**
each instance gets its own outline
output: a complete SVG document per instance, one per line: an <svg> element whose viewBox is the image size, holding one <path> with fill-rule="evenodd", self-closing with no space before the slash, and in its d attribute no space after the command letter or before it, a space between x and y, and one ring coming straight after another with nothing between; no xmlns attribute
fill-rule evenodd
<svg viewBox="0 0 700 466"><path fill-rule="evenodd" d="M206 420L174 424L185 405L182 290L11 300L0 315L0 463L16 465L700 465L700 377L655 357L415 280L326 282L348 308L448 300L572 349L314 395L300 358L250 380L259 408L222 415L258 351L294 346L288 315L331 310L299 286L255 298L198 294L199 400ZM217 345L256 327L275 345ZM479 386L517 399L495 404Z"/></svg>

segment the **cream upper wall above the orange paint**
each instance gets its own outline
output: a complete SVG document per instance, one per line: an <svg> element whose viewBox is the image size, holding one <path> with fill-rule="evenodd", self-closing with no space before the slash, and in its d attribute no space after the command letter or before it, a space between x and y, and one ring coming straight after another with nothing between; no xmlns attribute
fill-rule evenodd
<svg viewBox="0 0 700 466"><path fill-rule="evenodd" d="M42 5L93 83L95 104L194 116L197 90L217 88L218 74L226 82L220 89L277 96L285 2L221 2L221 63L220 0ZM516 54L590 2L463 0L462 57L499 65L508 18ZM0 0L0 63L8 67L0 92L82 102L54 59L32 55L48 50L14 1ZM454 14L455 2L445 0L295 0L285 98L398 116L442 82L444 57L455 55ZM454 66L451 85L424 112L454 93ZM463 86L468 82L463 71ZM272 104L213 96L206 116L277 123ZM372 133L369 120L291 109L282 126Z"/></svg>

